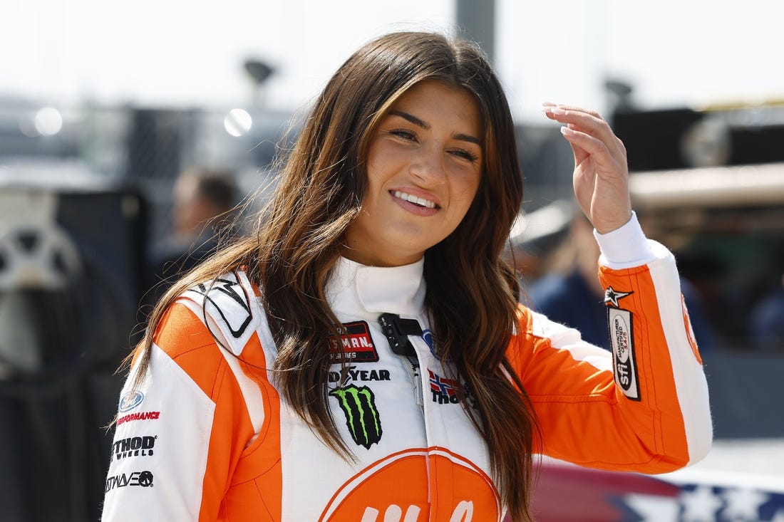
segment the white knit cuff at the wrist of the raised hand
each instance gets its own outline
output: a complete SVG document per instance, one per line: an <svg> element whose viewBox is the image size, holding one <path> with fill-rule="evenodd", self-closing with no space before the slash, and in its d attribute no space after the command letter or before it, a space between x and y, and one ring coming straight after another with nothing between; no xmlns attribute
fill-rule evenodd
<svg viewBox="0 0 784 522"><path fill-rule="evenodd" d="M601 249L599 262L608 268L631 268L657 259L633 211L631 219L622 227L607 234L593 230L593 237L596 237Z"/></svg>

